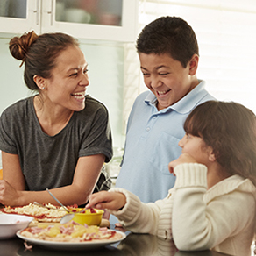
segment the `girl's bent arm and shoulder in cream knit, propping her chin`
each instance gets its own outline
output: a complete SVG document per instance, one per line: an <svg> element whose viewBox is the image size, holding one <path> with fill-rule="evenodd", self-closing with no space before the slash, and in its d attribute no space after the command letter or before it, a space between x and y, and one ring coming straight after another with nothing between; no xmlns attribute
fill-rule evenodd
<svg viewBox="0 0 256 256"><path fill-rule="evenodd" d="M247 255L245 247L250 250L255 224L252 182L234 176L207 193L205 166L182 164L174 172L172 231L177 248L196 251L218 246L225 250L228 245L233 251L227 253Z"/></svg>

